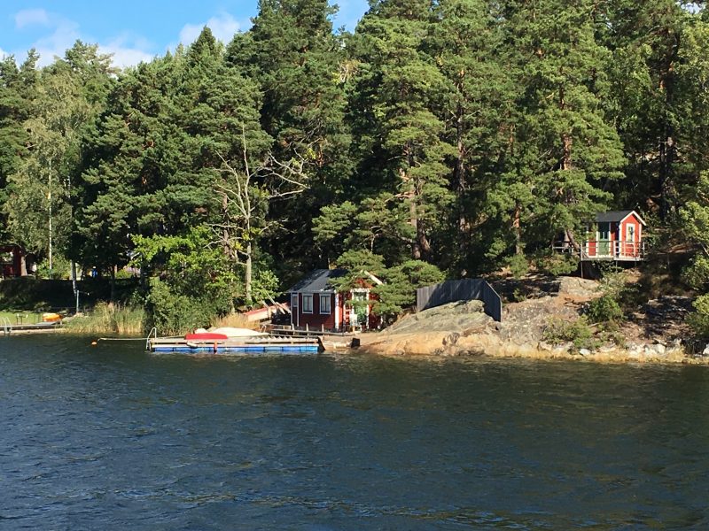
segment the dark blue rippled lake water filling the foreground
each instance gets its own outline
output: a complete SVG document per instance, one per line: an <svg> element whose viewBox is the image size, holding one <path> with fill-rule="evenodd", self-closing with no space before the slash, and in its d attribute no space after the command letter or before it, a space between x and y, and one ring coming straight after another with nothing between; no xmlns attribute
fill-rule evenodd
<svg viewBox="0 0 709 531"><path fill-rule="evenodd" d="M709 528L709 368L0 337L0 529Z"/></svg>

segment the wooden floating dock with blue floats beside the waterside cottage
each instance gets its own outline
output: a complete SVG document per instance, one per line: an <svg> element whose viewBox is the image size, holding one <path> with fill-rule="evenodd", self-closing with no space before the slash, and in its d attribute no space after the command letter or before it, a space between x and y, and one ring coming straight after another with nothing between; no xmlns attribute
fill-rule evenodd
<svg viewBox="0 0 709 531"><path fill-rule="evenodd" d="M317 337L253 336L230 339L191 339L155 337L147 342L147 350L156 353L187 354L317 354L323 342Z"/></svg>

